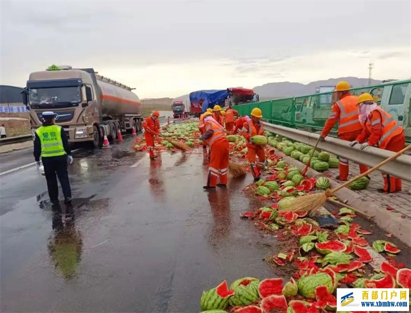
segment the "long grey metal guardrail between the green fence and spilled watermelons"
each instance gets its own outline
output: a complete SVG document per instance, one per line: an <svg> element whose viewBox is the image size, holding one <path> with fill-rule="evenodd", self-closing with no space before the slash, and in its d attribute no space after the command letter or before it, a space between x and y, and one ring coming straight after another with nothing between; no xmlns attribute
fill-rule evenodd
<svg viewBox="0 0 411 313"><path fill-rule="evenodd" d="M270 123L264 123L264 129L310 146L314 146L319 138L319 134ZM327 137L325 141L321 141L318 148L371 167L394 154L394 152L375 147L367 147L361 150L359 144L350 147L348 141L332 137ZM394 161L380 167L379 170L409 182L411 181L411 155L400 155Z"/></svg>

